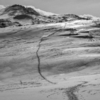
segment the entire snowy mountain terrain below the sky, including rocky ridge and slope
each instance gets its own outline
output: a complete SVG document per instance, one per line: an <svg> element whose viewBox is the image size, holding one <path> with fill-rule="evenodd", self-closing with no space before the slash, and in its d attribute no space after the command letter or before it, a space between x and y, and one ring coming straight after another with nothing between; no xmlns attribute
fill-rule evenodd
<svg viewBox="0 0 100 100"><path fill-rule="evenodd" d="M0 6L0 100L100 100L100 18Z"/></svg>

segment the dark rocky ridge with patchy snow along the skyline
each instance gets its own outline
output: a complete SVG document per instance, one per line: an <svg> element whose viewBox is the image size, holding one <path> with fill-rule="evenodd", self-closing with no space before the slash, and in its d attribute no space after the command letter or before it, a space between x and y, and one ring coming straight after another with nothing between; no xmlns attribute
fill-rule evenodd
<svg viewBox="0 0 100 100"><path fill-rule="evenodd" d="M4 20L4 21L2 21ZM72 21L86 21L93 20L93 16L78 16L75 14L64 14L57 15L49 12L45 12L34 7L12 5L8 7L2 7L0 9L0 28L8 26L23 26L33 24L44 24L44 23L62 23ZM95 19L97 20L97 18ZM11 23L9 25L9 23ZM17 24L15 24L17 23Z"/></svg>

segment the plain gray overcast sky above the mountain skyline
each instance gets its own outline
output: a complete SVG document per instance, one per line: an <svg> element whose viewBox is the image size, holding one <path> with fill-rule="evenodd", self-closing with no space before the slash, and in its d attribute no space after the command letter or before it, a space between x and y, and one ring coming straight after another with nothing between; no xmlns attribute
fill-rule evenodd
<svg viewBox="0 0 100 100"><path fill-rule="evenodd" d="M100 0L0 0L1 5L23 4L54 13L91 14L100 17Z"/></svg>

